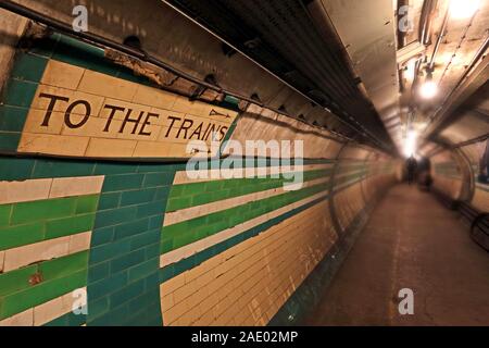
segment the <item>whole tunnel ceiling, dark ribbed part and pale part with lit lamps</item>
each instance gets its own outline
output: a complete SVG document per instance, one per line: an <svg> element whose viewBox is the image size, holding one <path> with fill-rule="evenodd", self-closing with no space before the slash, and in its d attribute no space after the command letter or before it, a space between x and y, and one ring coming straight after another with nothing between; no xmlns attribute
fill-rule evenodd
<svg viewBox="0 0 489 348"><path fill-rule="evenodd" d="M385 151L423 154L427 142L489 132L477 103L487 98L488 1L164 2L330 110L337 121L323 125Z"/></svg>

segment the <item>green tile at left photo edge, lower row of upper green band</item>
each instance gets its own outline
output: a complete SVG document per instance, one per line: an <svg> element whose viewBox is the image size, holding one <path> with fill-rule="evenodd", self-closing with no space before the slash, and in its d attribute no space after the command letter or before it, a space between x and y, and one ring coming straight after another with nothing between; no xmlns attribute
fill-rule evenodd
<svg viewBox="0 0 489 348"><path fill-rule="evenodd" d="M0 250L25 246L43 239L43 223L30 223L0 228Z"/></svg>

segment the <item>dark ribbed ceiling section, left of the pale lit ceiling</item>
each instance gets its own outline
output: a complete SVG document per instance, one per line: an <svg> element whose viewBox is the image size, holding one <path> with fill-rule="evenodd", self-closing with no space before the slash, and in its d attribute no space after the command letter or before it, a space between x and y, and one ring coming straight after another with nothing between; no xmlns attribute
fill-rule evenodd
<svg viewBox="0 0 489 348"><path fill-rule="evenodd" d="M353 128L361 129L361 137L375 139L377 147L393 151L391 138L374 105L359 88L361 79L352 72L336 33L327 26L317 27L308 1L165 2L331 110Z"/></svg>

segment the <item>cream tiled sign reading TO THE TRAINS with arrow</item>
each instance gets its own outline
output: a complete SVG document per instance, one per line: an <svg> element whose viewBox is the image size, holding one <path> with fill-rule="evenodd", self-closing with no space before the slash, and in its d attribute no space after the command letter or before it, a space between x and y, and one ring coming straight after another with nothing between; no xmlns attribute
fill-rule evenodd
<svg viewBox="0 0 489 348"><path fill-rule="evenodd" d="M190 158L187 145L191 140L210 145L214 137L222 141L236 116L228 109L50 60L17 151Z"/></svg>

